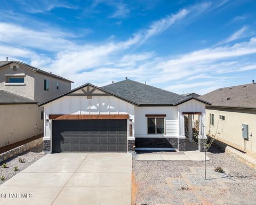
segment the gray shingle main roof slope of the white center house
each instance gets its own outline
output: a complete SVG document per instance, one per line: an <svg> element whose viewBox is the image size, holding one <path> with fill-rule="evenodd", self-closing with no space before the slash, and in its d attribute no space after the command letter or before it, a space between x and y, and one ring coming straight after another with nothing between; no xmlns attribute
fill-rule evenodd
<svg viewBox="0 0 256 205"><path fill-rule="evenodd" d="M185 98L183 95L129 79L101 88L140 105L173 105Z"/></svg>

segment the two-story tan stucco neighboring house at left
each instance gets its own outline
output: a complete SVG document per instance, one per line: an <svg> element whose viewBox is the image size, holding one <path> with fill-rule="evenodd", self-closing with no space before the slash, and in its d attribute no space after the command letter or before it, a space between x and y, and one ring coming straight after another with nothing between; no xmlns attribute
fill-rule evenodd
<svg viewBox="0 0 256 205"><path fill-rule="evenodd" d="M0 147L42 134L37 103L70 91L71 83L20 61L0 61Z"/></svg>

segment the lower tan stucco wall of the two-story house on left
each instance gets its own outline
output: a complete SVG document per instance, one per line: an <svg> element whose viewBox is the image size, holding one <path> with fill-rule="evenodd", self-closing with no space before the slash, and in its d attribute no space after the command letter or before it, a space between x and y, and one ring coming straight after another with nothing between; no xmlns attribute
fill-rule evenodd
<svg viewBox="0 0 256 205"><path fill-rule="evenodd" d="M0 105L0 147L43 133L42 110L36 104Z"/></svg>

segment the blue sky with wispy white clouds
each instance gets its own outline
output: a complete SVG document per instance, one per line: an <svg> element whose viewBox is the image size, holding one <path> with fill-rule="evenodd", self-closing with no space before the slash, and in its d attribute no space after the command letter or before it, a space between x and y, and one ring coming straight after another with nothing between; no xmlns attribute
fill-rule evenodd
<svg viewBox="0 0 256 205"><path fill-rule="evenodd" d="M0 1L0 60L204 94L256 79L256 1Z"/></svg>

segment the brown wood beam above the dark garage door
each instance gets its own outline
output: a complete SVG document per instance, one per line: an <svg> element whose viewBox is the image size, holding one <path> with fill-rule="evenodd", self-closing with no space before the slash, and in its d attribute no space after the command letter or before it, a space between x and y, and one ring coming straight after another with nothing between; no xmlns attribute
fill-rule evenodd
<svg viewBox="0 0 256 205"><path fill-rule="evenodd" d="M129 114L49 114L50 120L123 120L129 119Z"/></svg>

